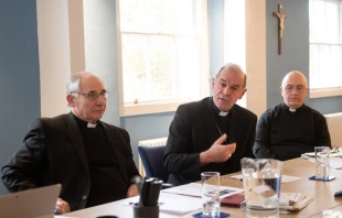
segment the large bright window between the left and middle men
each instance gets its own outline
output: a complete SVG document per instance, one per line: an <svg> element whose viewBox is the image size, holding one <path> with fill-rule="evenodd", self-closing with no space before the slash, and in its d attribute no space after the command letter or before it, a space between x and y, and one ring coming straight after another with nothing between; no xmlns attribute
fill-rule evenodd
<svg viewBox="0 0 342 218"><path fill-rule="evenodd" d="M205 0L121 0L119 20L122 116L209 95Z"/></svg>

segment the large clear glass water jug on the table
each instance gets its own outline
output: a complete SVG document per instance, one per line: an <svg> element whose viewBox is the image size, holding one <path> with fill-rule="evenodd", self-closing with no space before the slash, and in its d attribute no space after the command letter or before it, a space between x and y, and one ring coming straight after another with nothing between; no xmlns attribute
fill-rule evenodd
<svg viewBox="0 0 342 218"><path fill-rule="evenodd" d="M242 159L246 217L279 217L282 162L272 159Z"/></svg>

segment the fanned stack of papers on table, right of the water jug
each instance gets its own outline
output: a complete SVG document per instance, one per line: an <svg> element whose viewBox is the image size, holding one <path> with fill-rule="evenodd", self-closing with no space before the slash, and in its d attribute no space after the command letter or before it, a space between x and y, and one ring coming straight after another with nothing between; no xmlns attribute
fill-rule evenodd
<svg viewBox="0 0 342 218"><path fill-rule="evenodd" d="M313 201L313 198L301 193L281 193L279 208L287 210L301 210L311 201Z"/></svg>

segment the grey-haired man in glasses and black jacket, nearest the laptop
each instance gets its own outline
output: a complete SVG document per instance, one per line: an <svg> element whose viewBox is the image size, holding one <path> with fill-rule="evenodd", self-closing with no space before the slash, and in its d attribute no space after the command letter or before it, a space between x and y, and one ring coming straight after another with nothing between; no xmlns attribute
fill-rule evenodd
<svg viewBox="0 0 342 218"><path fill-rule="evenodd" d="M139 175L129 134L99 119L106 110L105 81L90 73L66 85L71 112L32 122L22 146L2 167L10 192L62 184L58 214L138 195Z"/></svg>

